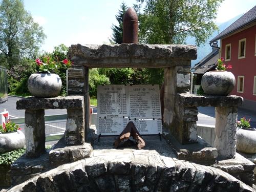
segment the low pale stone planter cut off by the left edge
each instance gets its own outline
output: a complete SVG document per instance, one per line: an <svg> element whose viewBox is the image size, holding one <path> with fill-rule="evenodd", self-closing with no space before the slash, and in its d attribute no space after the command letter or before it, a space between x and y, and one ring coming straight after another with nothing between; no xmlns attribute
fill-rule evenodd
<svg viewBox="0 0 256 192"><path fill-rule="evenodd" d="M25 135L21 131L0 134L0 153L18 150L25 146Z"/></svg>

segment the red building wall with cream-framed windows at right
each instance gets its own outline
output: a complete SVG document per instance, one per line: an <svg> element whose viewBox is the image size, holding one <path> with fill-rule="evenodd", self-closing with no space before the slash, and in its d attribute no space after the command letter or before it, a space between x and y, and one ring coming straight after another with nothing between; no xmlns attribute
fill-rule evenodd
<svg viewBox="0 0 256 192"><path fill-rule="evenodd" d="M239 59L239 40L243 38L246 38L245 58ZM256 101L256 95L253 95L253 81L254 76L256 76L255 38L256 25L222 39L221 45L221 56L225 58L225 46L231 44L230 61L224 61L226 65L228 65L228 63L232 65L232 69L228 69L228 71L231 71L236 77L236 86L231 94L242 96L245 100L250 101ZM244 76L243 93L237 91L238 76Z"/></svg>

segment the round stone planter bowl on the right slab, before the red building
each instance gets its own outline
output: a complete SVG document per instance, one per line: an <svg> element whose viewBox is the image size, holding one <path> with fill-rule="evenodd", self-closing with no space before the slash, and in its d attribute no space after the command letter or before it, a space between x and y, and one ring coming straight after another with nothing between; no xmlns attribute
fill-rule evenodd
<svg viewBox="0 0 256 192"><path fill-rule="evenodd" d="M209 71L201 80L201 86L207 95L228 95L235 84L234 75L228 71Z"/></svg>

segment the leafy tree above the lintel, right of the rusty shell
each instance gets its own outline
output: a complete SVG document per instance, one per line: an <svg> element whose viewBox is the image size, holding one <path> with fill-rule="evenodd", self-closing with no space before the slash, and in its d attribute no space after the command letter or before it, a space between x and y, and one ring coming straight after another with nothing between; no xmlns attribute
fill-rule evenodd
<svg viewBox="0 0 256 192"><path fill-rule="evenodd" d="M197 45L218 29L214 23L223 0L137 0L139 39L148 44L184 44L187 36Z"/></svg>

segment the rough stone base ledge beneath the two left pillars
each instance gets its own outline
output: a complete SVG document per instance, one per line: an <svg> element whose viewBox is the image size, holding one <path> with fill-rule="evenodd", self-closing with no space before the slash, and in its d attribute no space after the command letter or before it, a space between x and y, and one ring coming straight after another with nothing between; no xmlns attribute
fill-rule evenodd
<svg viewBox="0 0 256 192"><path fill-rule="evenodd" d="M11 165L12 184L24 182L37 176L46 170L65 163L71 163L90 157L92 146L89 143L83 145L66 146L64 139L60 139L51 150L38 158L28 158L23 155Z"/></svg>

